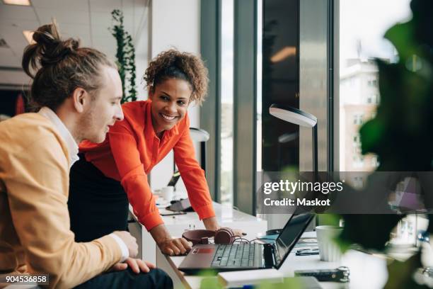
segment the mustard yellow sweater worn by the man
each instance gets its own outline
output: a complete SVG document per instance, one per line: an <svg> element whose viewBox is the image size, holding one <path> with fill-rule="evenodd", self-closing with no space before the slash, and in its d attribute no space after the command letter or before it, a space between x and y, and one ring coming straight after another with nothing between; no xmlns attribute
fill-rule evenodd
<svg viewBox="0 0 433 289"><path fill-rule="evenodd" d="M48 273L50 288L71 288L122 258L110 236L74 242L68 156L59 132L42 115L0 123L0 272Z"/></svg>

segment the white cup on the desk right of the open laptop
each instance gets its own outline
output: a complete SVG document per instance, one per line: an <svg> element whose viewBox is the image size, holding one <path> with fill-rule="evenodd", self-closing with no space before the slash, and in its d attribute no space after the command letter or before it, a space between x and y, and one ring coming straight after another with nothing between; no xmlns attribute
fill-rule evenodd
<svg viewBox="0 0 433 289"><path fill-rule="evenodd" d="M319 256L322 261L338 261L341 258L341 250L335 244L335 237L342 232L342 227L338 226L317 226L317 243Z"/></svg>

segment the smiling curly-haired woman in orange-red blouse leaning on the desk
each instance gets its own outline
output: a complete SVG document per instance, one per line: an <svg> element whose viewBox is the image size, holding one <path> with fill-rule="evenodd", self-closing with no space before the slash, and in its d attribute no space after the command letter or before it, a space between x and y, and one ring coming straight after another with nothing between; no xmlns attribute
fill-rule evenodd
<svg viewBox="0 0 433 289"><path fill-rule="evenodd" d="M173 149L192 208L207 229L219 225L204 171L195 159L187 108L207 93L207 68L200 57L168 50L144 76L147 101L122 106L125 119L100 144L84 141L71 169L69 212L77 242L127 229L128 205L165 254L185 254L190 243L173 239L163 225L147 174Z"/></svg>

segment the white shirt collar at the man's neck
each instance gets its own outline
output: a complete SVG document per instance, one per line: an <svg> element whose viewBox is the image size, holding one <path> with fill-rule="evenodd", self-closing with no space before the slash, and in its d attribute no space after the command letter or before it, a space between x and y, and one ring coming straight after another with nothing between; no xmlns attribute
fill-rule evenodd
<svg viewBox="0 0 433 289"><path fill-rule="evenodd" d="M76 141L74 140L74 137L72 137L71 132L69 132L66 125L64 125L62 120L57 116L56 113L54 113L54 111L51 110L51 108L44 106L43 108L40 109L38 113L52 121L52 123L57 128L57 130L59 130L62 139L64 140L64 142L66 142L69 151L69 162L70 162L69 169L70 169L71 166L74 164L74 162L79 160L79 156L78 156L79 147Z"/></svg>

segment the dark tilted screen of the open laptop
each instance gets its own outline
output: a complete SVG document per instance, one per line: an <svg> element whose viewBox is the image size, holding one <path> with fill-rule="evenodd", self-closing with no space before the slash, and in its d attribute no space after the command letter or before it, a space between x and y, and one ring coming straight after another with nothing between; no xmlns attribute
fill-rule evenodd
<svg viewBox="0 0 433 289"><path fill-rule="evenodd" d="M308 224L313 220L314 215L305 213L301 215L291 215L289 221L287 221L281 234L279 234L275 241L280 260L277 264L277 268L281 266L284 259L289 255L291 249L293 249L296 242L298 242L301 235L304 233Z"/></svg>

